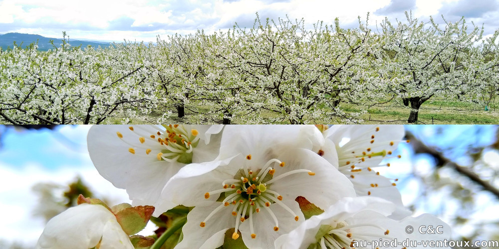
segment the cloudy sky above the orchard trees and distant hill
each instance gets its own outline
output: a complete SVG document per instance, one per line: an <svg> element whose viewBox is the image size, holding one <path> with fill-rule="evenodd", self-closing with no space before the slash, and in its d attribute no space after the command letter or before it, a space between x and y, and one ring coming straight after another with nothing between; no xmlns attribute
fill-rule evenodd
<svg viewBox="0 0 499 249"><path fill-rule="evenodd" d="M367 12L374 25L385 16L404 18L405 10L421 20L465 16L470 25L485 24L486 34L499 28L499 0L0 0L0 33L58 38L66 31L72 38L155 41L157 35L225 30L235 22L251 27L256 12L262 19L304 18L309 26L339 17L349 28Z"/></svg>

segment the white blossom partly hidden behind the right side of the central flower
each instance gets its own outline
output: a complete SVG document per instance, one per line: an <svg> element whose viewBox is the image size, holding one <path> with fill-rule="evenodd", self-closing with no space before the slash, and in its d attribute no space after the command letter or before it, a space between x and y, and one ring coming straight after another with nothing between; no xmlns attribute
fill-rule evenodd
<svg viewBox="0 0 499 249"><path fill-rule="evenodd" d="M402 125L333 125L319 126L324 141L314 149L329 162L337 160L338 170L353 183L357 196L375 196L397 205L391 218L402 219L410 212L404 208L397 190L398 179L388 179L376 172L383 159L400 157L393 151L402 140ZM334 163L332 163L334 165Z"/></svg>

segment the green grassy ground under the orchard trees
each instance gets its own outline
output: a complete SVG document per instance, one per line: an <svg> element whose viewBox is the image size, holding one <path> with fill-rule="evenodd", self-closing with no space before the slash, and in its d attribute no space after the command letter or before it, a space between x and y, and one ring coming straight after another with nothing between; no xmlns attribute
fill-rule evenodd
<svg viewBox="0 0 499 249"><path fill-rule="evenodd" d="M431 99L425 102L419 110L418 124L499 124L499 103L492 103L489 111L485 111L484 106L478 106L473 103L458 101L448 101L444 99ZM355 105L342 105L342 109L347 113L359 112L360 108ZM132 120L133 124L156 124L157 120L168 111L163 107L153 111L147 117ZM173 115L167 119L166 123L178 124L221 124L222 119L217 117L204 116L208 111L207 107L197 107L197 112L193 113L186 109L185 118L176 118ZM201 113L201 115L199 115ZM362 124L408 124L410 108L398 105L397 103L386 103L380 106L374 106L367 110L366 114L360 116L364 120ZM276 118L275 113L263 111L260 114L264 118ZM119 123L119 120L115 121ZM233 124L245 124L245 117L235 117ZM315 124L339 124L338 118L316 120ZM284 121L282 124L286 124Z"/></svg>

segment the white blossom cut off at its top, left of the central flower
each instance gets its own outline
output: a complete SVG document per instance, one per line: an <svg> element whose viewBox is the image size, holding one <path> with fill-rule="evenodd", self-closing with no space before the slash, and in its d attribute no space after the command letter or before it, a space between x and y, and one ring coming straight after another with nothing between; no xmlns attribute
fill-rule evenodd
<svg viewBox="0 0 499 249"><path fill-rule="evenodd" d="M126 189L134 206L166 205L170 209L176 205L159 199L163 187L185 165L215 159L222 128L94 125L88 132L88 151L99 173L114 186Z"/></svg>

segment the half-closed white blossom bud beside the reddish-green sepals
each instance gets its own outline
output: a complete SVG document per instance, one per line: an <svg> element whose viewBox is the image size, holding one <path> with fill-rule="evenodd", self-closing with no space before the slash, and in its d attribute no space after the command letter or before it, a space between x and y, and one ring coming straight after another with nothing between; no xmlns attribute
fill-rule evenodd
<svg viewBox="0 0 499 249"><path fill-rule="evenodd" d="M80 204L52 218L36 249L133 249L116 217L102 205Z"/></svg>

